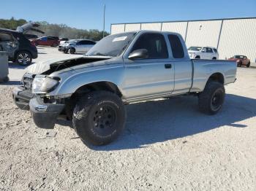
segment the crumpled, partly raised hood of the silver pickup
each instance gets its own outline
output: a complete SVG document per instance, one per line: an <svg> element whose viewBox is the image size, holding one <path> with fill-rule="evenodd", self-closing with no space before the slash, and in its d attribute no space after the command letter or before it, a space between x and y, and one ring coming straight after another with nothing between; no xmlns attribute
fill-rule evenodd
<svg viewBox="0 0 256 191"><path fill-rule="evenodd" d="M77 65L83 65L86 63L92 63L95 61L102 61L107 60L112 57L107 56L78 56L75 58L67 58L67 59L52 59L45 62L39 62L34 63L31 66L27 68L27 71L29 74L42 74L46 71L49 71L50 69L56 67L56 69L53 69L54 71L59 71L64 68L69 68L71 66L77 66ZM71 64L70 64L71 63ZM59 67L62 66L62 67Z"/></svg>

